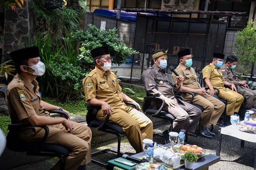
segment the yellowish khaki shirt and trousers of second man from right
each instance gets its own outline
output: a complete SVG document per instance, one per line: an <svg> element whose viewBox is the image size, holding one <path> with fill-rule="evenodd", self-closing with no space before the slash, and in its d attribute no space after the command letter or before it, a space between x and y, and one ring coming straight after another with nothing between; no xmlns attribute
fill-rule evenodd
<svg viewBox="0 0 256 170"><path fill-rule="evenodd" d="M218 97L228 102L226 106L227 115L234 115L234 111L239 111L240 106L243 103L243 96L224 87L225 80L222 75L222 69L217 68L210 63L202 69L202 77L209 78L212 86L220 89Z"/></svg>

